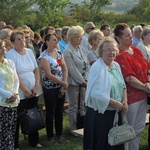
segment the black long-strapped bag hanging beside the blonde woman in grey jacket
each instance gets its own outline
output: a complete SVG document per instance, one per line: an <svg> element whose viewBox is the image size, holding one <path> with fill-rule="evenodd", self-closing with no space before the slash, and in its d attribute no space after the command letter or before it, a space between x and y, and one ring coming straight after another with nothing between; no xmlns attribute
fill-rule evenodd
<svg viewBox="0 0 150 150"><path fill-rule="evenodd" d="M81 86L79 86L79 96L78 96L78 111L77 111L77 129L82 129L84 128L84 116L80 115L80 90Z"/></svg>

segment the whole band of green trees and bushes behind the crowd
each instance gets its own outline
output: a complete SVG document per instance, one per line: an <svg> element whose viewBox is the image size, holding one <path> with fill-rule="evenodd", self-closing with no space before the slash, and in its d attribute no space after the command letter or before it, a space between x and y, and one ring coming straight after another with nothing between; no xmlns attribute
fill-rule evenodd
<svg viewBox="0 0 150 150"><path fill-rule="evenodd" d="M27 24L33 30L39 30L48 25L54 27L85 25L89 21L98 25L114 25L119 22L149 22L150 20L150 0L140 0L126 14L104 12L103 8L110 4L110 0L84 0L81 5L72 4L69 1L0 0L0 20L14 27ZM122 5L119 7L123 8Z"/></svg>

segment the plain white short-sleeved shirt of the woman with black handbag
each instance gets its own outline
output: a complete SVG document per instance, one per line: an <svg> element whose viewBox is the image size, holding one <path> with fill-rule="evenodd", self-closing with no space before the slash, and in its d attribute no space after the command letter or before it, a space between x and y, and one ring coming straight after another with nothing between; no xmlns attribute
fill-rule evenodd
<svg viewBox="0 0 150 150"><path fill-rule="evenodd" d="M20 55L15 49L11 49L6 53L6 58L13 60L16 66L18 77L25 86L31 90L35 86L34 69L38 68L35 56L32 50L25 48L26 54ZM25 99L24 92L19 89L20 99Z"/></svg>

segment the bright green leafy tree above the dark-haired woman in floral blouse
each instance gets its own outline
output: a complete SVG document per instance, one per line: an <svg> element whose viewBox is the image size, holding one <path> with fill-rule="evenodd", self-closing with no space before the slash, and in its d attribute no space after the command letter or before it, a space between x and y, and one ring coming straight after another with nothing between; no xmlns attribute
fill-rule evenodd
<svg viewBox="0 0 150 150"><path fill-rule="evenodd" d="M36 0L39 6L38 18L41 19L42 25L52 25L58 27L61 25L64 16L64 8L69 0Z"/></svg>

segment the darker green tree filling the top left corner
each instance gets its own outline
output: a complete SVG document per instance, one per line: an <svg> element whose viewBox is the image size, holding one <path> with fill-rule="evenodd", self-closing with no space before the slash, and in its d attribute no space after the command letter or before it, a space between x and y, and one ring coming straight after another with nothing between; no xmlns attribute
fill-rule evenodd
<svg viewBox="0 0 150 150"><path fill-rule="evenodd" d="M33 0L0 0L0 20L14 26L21 25L33 10Z"/></svg>

